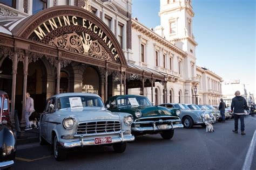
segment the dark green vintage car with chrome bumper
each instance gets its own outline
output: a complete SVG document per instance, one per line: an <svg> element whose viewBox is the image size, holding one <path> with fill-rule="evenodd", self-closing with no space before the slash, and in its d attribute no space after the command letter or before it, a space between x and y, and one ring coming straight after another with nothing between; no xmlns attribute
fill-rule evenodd
<svg viewBox="0 0 256 170"><path fill-rule="evenodd" d="M127 112L133 116L134 136L160 133L164 139L171 139L175 128L183 128L179 109L154 106L145 96L113 96L107 100L106 107L112 112Z"/></svg>

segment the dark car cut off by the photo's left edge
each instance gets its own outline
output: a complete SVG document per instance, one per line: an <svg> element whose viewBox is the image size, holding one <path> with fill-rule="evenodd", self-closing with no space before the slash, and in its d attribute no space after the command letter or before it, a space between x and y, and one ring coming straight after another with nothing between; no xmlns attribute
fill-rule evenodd
<svg viewBox="0 0 256 170"><path fill-rule="evenodd" d="M0 90L0 169L14 164L16 154L16 132L10 123L8 95Z"/></svg>

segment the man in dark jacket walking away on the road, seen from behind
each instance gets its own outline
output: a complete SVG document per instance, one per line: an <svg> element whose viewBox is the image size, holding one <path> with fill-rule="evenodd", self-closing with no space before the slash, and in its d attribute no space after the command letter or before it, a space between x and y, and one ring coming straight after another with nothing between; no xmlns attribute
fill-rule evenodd
<svg viewBox="0 0 256 170"><path fill-rule="evenodd" d="M231 102L231 112L234 109L234 133L238 133L238 119L240 118L241 123L241 134L245 135L245 109L247 108L247 103L244 97L240 96L240 91L235 91L235 97L232 98Z"/></svg>

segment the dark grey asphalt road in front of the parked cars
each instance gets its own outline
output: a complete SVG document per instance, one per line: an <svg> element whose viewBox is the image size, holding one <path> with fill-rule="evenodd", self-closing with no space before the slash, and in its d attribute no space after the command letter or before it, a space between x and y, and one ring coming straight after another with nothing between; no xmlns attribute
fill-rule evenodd
<svg viewBox="0 0 256 170"><path fill-rule="evenodd" d="M232 132L234 121L205 128L177 129L171 140L160 134L137 137L124 153L110 146L86 147L71 151L64 161L56 161L50 146L38 143L19 145L13 169L241 169L254 131L256 117L245 118L245 136ZM240 129L240 123L239 123ZM255 141L254 141L255 143ZM251 169L256 169L256 152Z"/></svg>

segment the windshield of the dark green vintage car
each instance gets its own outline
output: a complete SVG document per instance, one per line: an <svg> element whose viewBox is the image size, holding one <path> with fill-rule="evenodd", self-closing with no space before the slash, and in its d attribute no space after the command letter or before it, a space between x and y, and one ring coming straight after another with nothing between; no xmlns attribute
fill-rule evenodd
<svg viewBox="0 0 256 170"><path fill-rule="evenodd" d="M137 107L137 106L149 106L152 105L146 97L120 97L117 98L118 108L120 107Z"/></svg>

